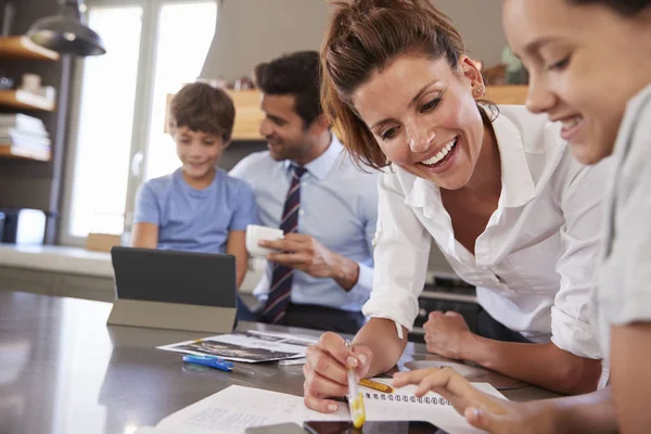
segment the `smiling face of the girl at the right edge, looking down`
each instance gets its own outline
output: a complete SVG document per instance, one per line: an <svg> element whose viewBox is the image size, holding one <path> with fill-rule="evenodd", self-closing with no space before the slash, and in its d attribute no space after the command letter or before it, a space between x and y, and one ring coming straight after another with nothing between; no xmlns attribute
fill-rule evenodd
<svg viewBox="0 0 651 434"><path fill-rule="evenodd" d="M649 20L565 0L505 0L503 24L529 72L527 107L562 122L582 163L610 155L627 101L651 82Z"/></svg>

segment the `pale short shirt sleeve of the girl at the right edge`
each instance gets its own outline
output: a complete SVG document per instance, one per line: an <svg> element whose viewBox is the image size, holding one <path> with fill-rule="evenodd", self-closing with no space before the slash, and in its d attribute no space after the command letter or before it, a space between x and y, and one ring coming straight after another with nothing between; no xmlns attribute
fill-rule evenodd
<svg viewBox="0 0 651 434"><path fill-rule="evenodd" d="M607 257L608 279L600 288L600 309L609 322L651 321L651 88L628 108L623 129L629 137L614 187L614 239Z"/></svg>

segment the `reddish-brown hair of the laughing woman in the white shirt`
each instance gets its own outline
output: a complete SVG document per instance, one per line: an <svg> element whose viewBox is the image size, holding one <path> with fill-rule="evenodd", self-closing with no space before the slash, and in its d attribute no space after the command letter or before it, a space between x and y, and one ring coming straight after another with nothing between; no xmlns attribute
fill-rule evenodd
<svg viewBox="0 0 651 434"><path fill-rule="evenodd" d="M350 95L374 72L403 54L445 58L455 69L465 46L450 20L430 0L333 3L336 9L321 49L323 112L355 163L381 169L390 162L355 113Z"/></svg>

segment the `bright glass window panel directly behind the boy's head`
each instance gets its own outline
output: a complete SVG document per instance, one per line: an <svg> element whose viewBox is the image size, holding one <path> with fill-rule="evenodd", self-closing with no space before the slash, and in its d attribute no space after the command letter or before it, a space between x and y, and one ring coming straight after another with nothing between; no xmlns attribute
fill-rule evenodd
<svg viewBox="0 0 651 434"><path fill-rule="evenodd" d="M146 179L170 174L179 167L174 141L164 132L167 94L177 92L201 74L216 23L215 1L168 3L161 9L152 119L144 169Z"/></svg>

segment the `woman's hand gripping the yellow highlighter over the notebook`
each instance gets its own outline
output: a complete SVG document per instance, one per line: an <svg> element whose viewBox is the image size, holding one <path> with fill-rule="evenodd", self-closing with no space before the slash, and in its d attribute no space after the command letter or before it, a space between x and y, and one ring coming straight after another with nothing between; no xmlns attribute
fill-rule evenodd
<svg viewBox="0 0 651 434"><path fill-rule="evenodd" d="M348 393L346 367L356 368L358 378L363 378L373 358L367 346L346 346L343 337L328 332L321 335L318 344L310 345L303 367L305 374L305 405L312 410L329 413L336 411L340 403L328 399Z"/></svg>

